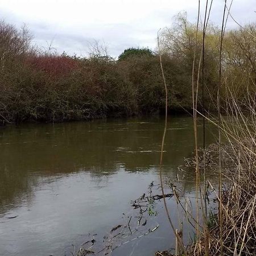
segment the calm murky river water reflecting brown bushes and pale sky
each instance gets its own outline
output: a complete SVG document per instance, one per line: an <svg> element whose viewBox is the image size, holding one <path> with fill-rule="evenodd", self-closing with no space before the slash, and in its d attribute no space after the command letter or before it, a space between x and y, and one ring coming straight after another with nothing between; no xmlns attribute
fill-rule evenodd
<svg viewBox="0 0 256 256"><path fill-rule="evenodd" d="M163 127L163 119L155 118L0 130L0 255L71 255L71 245L79 246L88 233L107 233L131 210L130 201L158 182ZM207 140L213 140L210 131ZM176 177L193 144L192 118L171 118L165 175ZM185 192L194 191L193 179L193 172L185 174ZM113 255L152 255L171 247L170 230L157 232Z"/></svg>

